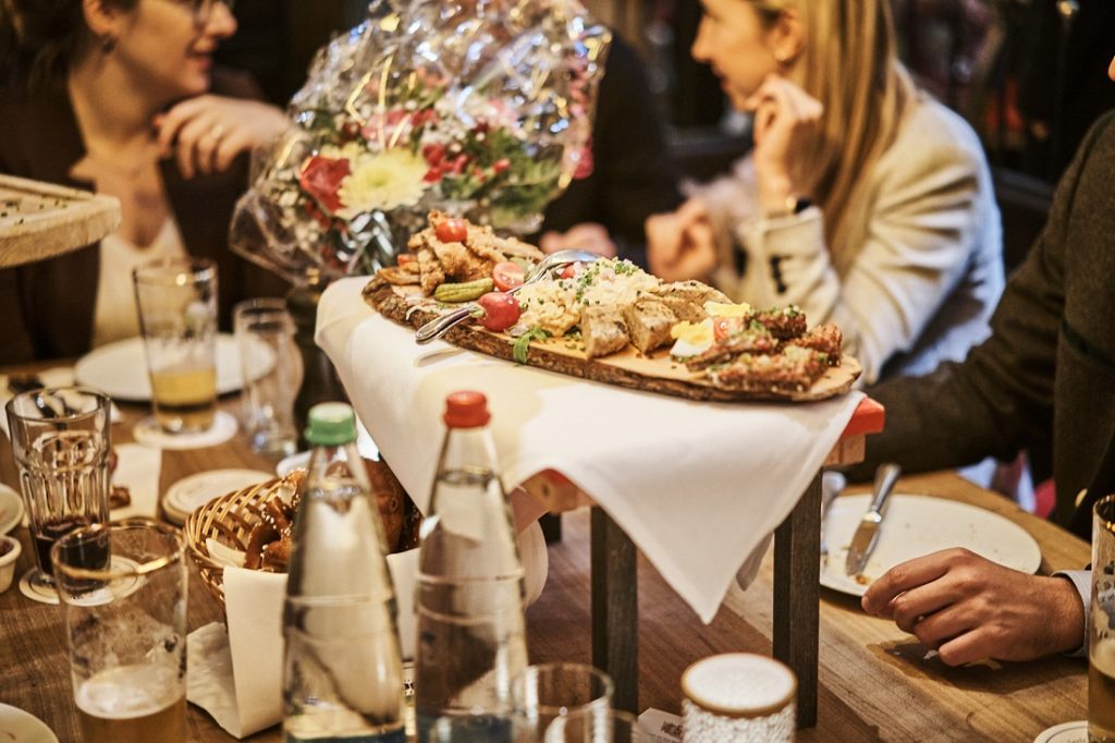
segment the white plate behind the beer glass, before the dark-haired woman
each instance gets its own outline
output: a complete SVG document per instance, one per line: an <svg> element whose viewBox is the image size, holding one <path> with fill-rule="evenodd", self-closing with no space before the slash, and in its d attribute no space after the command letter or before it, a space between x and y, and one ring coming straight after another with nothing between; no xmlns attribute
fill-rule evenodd
<svg viewBox="0 0 1115 743"><path fill-rule="evenodd" d="M274 365L273 354L263 354L262 358L264 361L260 368L252 370L253 379L266 374ZM78 359L74 372L78 384L100 389L114 399L135 403L151 399L143 338L128 338L95 348ZM236 339L222 332L216 337L216 392L226 395L236 392L243 384Z"/></svg>

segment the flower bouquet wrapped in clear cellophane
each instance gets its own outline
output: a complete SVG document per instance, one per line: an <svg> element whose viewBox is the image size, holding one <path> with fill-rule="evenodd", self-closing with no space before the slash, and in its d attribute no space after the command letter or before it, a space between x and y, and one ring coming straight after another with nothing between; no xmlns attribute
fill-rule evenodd
<svg viewBox="0 0 1115 743"><path fill-rule="evenodd" d="M304 283L392 264L432 210L533 232L591 171L609 40L578 0L376 0L258 158L233 249Z"/></svg>

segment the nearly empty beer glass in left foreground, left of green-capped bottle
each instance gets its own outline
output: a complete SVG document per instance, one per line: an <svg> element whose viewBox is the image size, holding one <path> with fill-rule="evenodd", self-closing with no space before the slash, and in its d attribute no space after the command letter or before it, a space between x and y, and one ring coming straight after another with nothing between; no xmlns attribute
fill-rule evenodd
<svg viewBox="0 0 1115 743"><path fill-rule="evenodd" d="M50 551L85 743L186 740L181 531L145 519L72 531Z"/></svg>

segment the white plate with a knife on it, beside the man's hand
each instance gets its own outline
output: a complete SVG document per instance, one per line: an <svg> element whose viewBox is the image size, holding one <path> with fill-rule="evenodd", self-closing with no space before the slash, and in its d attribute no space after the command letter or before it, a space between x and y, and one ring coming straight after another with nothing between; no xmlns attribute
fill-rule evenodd
<svg viewBox="0 0 1115 743"><path fill-rule="evenodd" d="M875 551L867 560L860 583L844 575L852 534L867 510L871 495L837 498L828 511L825 540L828 561L821 567L821 585L842 594L863 596L871 580L906 560L950 547L966 547L999 565L1036 572L1041 550L1030 534L1014 521L985 509L942 498L894 493L886 505Z"/></svg>

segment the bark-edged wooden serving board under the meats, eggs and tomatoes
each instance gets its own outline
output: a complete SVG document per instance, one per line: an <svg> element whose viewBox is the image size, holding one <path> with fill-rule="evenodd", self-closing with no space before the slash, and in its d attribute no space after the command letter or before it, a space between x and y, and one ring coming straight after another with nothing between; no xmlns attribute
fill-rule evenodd
<svg viewBox="0 0 1115 743"><path fill-rule="evenodd" d="M417 310L407 319L410 305L407 303L400 291L403 290L391 286L374 287L369 284L363 297L384 317L416 329L437 317L433 312ZM449 330L444 338L460 348L514 360L514 338L501 332L491 332L475 322L463 322ZM803 392L741 392L717 387L704 374L690 372L685 364L679 364L670 358L668 348L643 355L634 347L628 346L627 349L618 354L590 359L583 350L571 348L571 346L573 344L569 342L566 338L534 341L527 351L526 364L550 372L559 372L620 387L630 387L631 389L685 397L686 399L725 403L825 399L849 392L852 388L852 383L861 373L860 363L845 355L841 359L840 366L830 367L821 379Z"/></svg>

